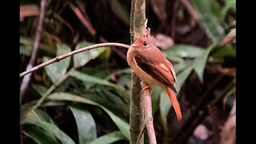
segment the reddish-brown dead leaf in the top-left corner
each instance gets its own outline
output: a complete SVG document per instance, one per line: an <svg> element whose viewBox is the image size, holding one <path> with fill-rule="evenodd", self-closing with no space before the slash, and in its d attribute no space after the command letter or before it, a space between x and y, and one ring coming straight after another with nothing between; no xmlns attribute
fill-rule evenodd
<svg viewBox="0 0 256 144"><path fill-rule="evenodd" d="M20 22L23 22L24 18L28 16L39 16L37 5L20 6Z"/></svg>

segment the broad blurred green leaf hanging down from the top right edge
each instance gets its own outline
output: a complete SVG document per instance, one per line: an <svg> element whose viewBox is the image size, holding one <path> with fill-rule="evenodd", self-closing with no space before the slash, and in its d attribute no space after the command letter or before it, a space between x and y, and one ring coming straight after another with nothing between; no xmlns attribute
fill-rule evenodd
<svg viewBox="0 0 256 144"><path fill-rule="evenodd" d="M220 25L218 18L212 12L214 0L189 0L202 20L202 24L213 44L218 44L224 38L224 28Z"/></svg>

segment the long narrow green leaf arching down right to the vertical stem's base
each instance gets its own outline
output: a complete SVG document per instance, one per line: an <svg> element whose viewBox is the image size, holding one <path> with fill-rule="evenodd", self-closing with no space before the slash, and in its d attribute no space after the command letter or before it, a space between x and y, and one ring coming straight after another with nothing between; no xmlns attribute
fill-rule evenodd
<svg viewBox="0 0 256 144"><path fill-rule="evenodd" d="M88 100L86 98L82 98L80 96L70 94L70 93L53 93L48 96L49 100L64 100L64 101L72 101L72 102L80 102L84 104L91 104L94 106L98 106L102 108L113 120L113 122L116 124L116 126L119 128L119 130L124 134L124 136L127 138L127 140L130 139L130 131L129 131L129 124L124 122L122 119L120 119L118 116L113 114L111 111L106 109L104 106L97 104L95 102L92 102L91 100Z"/></svg>

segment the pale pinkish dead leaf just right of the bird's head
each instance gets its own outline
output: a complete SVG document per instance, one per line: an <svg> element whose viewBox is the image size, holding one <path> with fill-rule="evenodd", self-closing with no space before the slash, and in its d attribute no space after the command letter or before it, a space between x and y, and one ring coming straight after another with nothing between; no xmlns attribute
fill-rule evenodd
<svg viewBox="0 0 256 144"><path fill-rule="evenodd" d="M174 45L172 38L164 34L156 34L155 39L156 39L156 46L163 49L166 49Z"/></svg>

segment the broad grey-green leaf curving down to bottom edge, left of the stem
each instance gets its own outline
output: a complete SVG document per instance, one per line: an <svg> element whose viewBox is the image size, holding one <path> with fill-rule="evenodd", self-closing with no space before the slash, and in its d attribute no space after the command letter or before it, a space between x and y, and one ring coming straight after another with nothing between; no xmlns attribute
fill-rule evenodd
<svg viewBox="0 0 256 144"><path fill-rule="evenodd" d="M87 144L97 138L96 124L92 115L82 106L70 106L76 119L79 144Z"/></svg>

